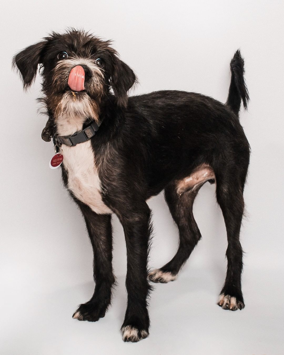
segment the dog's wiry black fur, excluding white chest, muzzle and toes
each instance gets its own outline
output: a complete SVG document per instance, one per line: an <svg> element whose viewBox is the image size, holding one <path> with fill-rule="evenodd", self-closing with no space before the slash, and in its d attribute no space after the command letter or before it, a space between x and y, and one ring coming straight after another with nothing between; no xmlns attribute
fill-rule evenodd
<svg viewBox="0 0 284 355"><path fill-rule="evenodd" d="M72 30L63 35L53 33L43 42L17 54L14 63L22 73L25 87L34 80L37 64L43 65L43 100L49 113L46 135L50 135L56 130L54 101L60 96L51 80L57 53L68 49L88 58L99 55L105 60L103 92L100 97L92 96L92 91L89 93L98 106L102 121L99 131L91 139L91 146L101 181L102 199L117 214L124 229L128 300L122 327L136 328L138 336L129 336L125 340L138 341L149 331L147 256L151 211L145 201L165 190L167 204L179 229L180 243L176 256L161 271L176 275L201 238L192 207L203 183L181 194L177 193L177 186L200 166L210 166L214 171L215 178L209 181L216 180L217 201L227 228L228 270L221 294L236 298L237 306L233 308L244 307L239 232L250 147L238 114L241 100L246 108L249 96L243 77L244 62L237 51L231 62L232 80L225 105L210 97L183 91L158 91L127 97L128 89L136 80L135 75L118 59L109 44L80 31ZM33 53L31 57L30 53ZM110 80L114 95L108 86ZM62 82L62 89L65 86ZM64 163L62 177L68 188L68 171ZM72 191L69 192L83 213L94 251L94 295L77 311L81 320L97 321L105 315L115 282L111 216L93 212ZM159 281L151 276L150 279ZM227 303L220 305L229 308Z"/></svg>

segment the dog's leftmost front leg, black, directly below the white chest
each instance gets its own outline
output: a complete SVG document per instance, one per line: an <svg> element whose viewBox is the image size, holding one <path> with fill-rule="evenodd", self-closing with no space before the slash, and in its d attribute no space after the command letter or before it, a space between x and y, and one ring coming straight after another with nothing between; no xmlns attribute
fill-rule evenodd
<svg viewBox="0 0 284 355"><path fill-rule="evenodd" d="M111 302L115 282L112 271L112 229L110 214L96 214L87 205L78 202L87 225L94 252L95 290L91 299L81 304L73 314L80 321L96 322L105 316Z"/></svg>

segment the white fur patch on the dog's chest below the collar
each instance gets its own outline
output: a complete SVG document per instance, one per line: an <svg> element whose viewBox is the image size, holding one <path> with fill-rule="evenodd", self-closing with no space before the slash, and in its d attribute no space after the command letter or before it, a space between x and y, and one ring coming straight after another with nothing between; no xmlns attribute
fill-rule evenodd
<svg viewBox="0 0 284 355"><path fill-rule="evenodd" d="M99 214L112 213L101 198L101 183L94 162L91 142L63 146L63 164L68 172L67 187L78 200Z"/></svg>

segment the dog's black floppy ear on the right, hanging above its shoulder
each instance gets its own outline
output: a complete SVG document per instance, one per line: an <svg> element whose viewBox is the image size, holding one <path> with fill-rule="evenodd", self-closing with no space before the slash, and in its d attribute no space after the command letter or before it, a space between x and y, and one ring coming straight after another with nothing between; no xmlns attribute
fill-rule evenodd
<svg viewBox="0 0 284 355"><path fill-rule="evenodd" d="M117 56L113 58L113 69L111 74L111 86L116 96L117 104L120 107L127 106L127 91L137 81L131 68Z"/></svg>

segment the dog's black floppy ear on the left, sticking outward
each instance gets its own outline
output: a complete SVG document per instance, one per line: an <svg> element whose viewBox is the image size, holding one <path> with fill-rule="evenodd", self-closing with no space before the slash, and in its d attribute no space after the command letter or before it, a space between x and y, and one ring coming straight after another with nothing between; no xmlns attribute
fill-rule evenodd
<svg viewBox="0 0 284 355"><path fill-rule="evenodd" d="M24 89L30 87L35 80L38 64L42 62L41 54L45 45L46 41L30 45L13 58L13 67L17 67L22 74Z"/></svg>

